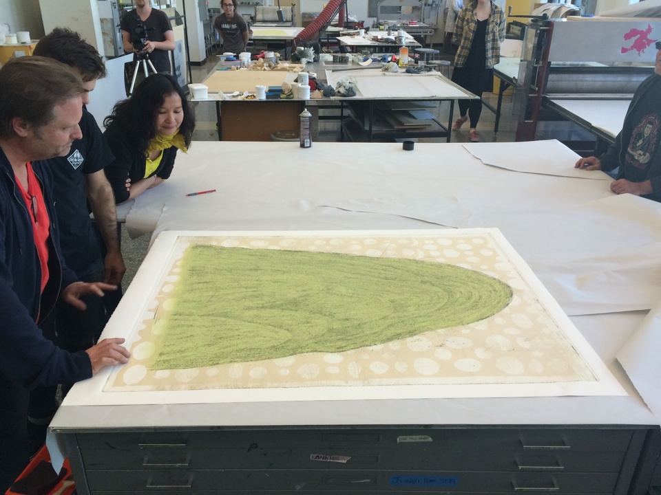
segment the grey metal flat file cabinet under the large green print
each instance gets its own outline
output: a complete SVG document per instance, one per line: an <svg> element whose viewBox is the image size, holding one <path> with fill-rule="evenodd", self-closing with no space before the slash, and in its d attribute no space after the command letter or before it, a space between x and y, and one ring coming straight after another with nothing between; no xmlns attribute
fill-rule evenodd
<svg viewBox="0 0 661 495"><path fill-rule="evenodd" d="M78 494L644 494L658 427L62 432Z"/></svg>

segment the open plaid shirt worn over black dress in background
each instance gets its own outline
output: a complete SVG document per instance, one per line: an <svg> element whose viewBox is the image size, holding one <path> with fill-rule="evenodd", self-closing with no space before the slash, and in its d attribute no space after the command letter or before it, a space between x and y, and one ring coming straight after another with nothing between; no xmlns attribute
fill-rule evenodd
<svg viewBox="0 0 661 495"><path fill-rule="evenodd" d="M470 46L477 27L476 16L477 1L467 3L454 23L452 41L459 45L457 55L454 56L454 67L463 67L470 52ZM487 24L486 49L487 65L491 69L501 61L501 41L505 39L505 12L493 0L491 1L491 15Z"/></svg>

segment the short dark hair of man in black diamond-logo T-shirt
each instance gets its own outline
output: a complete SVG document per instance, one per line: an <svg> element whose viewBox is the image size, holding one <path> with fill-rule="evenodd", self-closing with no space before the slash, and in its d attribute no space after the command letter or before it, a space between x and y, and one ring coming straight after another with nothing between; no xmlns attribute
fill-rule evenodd
<svg viewBox="0 0 661 495"><path fill-rule="evenodd" d="M85 83L106 76L105 64L90 43L81 35L67 28L55 28L34 47L34 55L54 58L78 69Z"/></svg>

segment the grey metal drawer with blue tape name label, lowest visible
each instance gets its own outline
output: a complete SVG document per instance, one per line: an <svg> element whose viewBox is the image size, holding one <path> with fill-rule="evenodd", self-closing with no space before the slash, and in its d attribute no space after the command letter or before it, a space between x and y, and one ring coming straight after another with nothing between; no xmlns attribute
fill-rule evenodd
<svg viewBox="0 0 661 495"><path fill-rule="evenodd" d="M617 474L510 474L465 471L345 470L90 470L87 482L96 491L238 490L260 493L379 492L612 493Z"/></svg>

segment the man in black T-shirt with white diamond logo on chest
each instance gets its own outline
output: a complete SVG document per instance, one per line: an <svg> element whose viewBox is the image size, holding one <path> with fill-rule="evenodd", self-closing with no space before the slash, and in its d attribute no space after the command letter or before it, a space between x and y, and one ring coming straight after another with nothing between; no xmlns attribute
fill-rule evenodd
<svg viewBox="0 0 661 495"><path fill-rule="evenodd" d="M78 122L83 137L73 142L66 155L48 159L65 264L83 282L103 281L119 285L126 268L118 239L115 197L103 171L112 163L114 155L94 116L85 108L85 104L90 103L96 80L106 75L105 65L96 48L81 39L78 33L63 28L55 28L43 36L33 54L68 65L81 76L85 87L83 118ZM90 219L88 203L94 213L94 223ZM99 234L103 239L103 252ZM80 311L59 301L51 317L40 325L46 337L70 352L94 345L107 320L101 298L89 296L84 302L87 309ZM71 386L63 384L63 393ZM43 445L46 427L58 407L56 393L57 386L38 387L30 393L28 432L31 452L38 451Z"/></svg>

